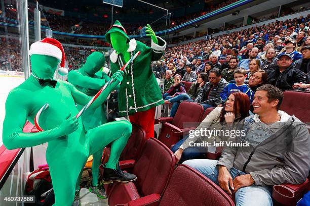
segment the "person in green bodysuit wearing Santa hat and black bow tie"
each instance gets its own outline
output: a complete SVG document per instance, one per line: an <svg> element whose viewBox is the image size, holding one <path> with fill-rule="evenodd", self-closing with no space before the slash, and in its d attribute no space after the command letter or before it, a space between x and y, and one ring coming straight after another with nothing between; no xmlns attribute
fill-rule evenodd
<svg viewBox="0 0 310 206"><path fill-rule="evenodd" d="M119 157L131 134L127 121L111 122L86 131L82 119L76 119L75 104L86 105L91 96L76 89L72 84L54 80L53 75L64 65L64 50L59 41L45 38L34 42L29 50L32 75L12 89L6 101L3 124L3 143L8 149L30 147L48 142L46 160L50 168L55 204L69 206L74 199L75 186L81 169L90 154L102 151L112 142L111 155L105 165L103 182L130 182L133 174L117 168ZM123 72L115 72L114 81L93 101L89 109L101 107L110 91L122 81ZM34 123L36 113L43 105L49 108L41 114L38 133L22 132L26 120Z"/></svg>

